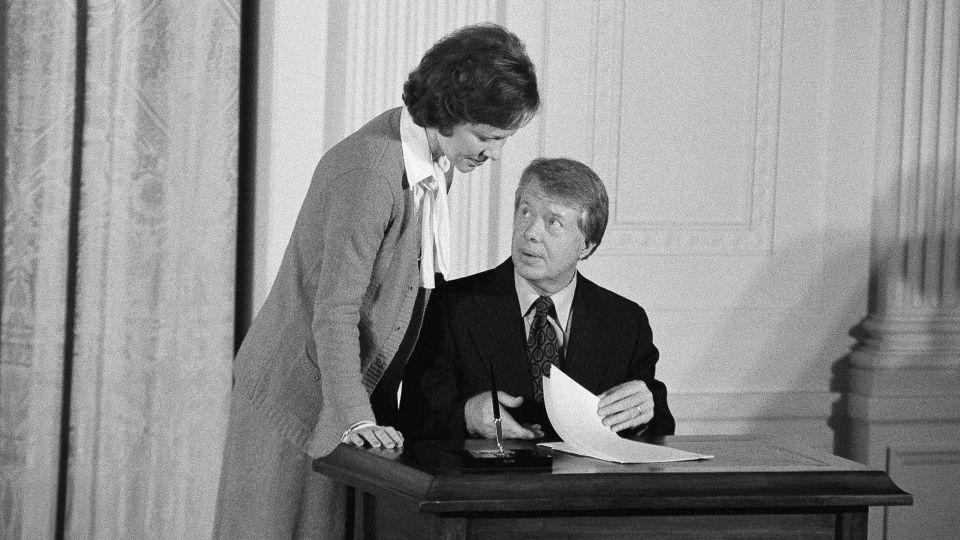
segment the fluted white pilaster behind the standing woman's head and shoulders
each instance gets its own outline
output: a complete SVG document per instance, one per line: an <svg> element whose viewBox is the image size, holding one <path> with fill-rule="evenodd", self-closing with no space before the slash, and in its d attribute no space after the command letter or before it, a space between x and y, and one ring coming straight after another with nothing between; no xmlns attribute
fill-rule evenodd
<svg viewBox="0 0 960 540"><path fill-rule="evenodd" d="M334 94L327 115L340 140L381 112L402 105L403 83L421 56L438 39L467 24L499 20L497 0L411 0L409 2L348 2L342 8L345 85L331 84ZM426 23L426 25L424 25ZM342 100L342 103L341 103ZM338 116L341 116L338 118ZM499 223L491 211L499 182L496 164L469 174L457 173L450 191L453 231L453 277L488 268L490 244Z"/></svg>

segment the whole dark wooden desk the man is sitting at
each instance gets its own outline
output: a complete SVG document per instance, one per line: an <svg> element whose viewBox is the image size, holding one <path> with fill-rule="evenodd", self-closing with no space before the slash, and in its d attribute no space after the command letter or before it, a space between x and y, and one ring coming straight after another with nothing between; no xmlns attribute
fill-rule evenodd
<svg viewBox="0 0 960 540"><path fill-rule="evenodd" d="M314 469L355 488L356 538L864 538L867 507L912 504L883 471L822 452L744 436L661 442L716 457L619 465L558 453L550 471L467 472L452 452L462 444L421 441L341 445Z"/></svg>

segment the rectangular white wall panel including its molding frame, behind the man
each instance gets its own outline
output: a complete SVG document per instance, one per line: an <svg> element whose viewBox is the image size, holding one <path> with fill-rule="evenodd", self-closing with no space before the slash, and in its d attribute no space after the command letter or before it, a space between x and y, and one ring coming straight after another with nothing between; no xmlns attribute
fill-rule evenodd
<svg viewBox="0 0 960 540"><path fill-rule="evenodd" d="M604 56L622 59L619 76L598 71L598 101L613 110L594 127L619 131L617 147L595 137L594 151L612 183L613 249L770 250L782 11L778 2L623 10L621 50L598 29Z"/></svg>

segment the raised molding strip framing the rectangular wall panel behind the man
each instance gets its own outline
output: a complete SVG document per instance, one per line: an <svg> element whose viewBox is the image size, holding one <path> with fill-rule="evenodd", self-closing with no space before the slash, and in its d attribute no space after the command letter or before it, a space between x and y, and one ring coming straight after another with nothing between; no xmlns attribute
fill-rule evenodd
<svg viewBox="0 0 960 540"><path fill-rule="evenodd" d="M783 63L783 1L753 5L756 79L755 100L749 111L753 143L748 150L750 169L743 171L749 193L746 215L735 223L662 223L625 221L617 217L617 197L611 201L606 241L620 255L751 255L772 250L777 182L777 143L780 117L780 79ZM624 0L597 5L594 123L594 167L601 178L613 179L618 192L620 171L620 116L623 92Z"/></svg>

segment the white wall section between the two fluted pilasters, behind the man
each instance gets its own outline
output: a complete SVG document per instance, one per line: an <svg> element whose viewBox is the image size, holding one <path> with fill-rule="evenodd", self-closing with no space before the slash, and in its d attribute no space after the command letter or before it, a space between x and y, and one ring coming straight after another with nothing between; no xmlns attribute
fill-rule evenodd
<svg viewBox="0 0 960 540"><path fill-rule="evenodd" d="M548 2L538 65L541 152L590 164L611 195L607 235L582 269L647 308L668 386L686 403L700 392L802 395L817 411L805 429L823 440L832 366L866 310L870 207L862 178L831 175L836 147L824 143L830 7ZM827 192L867 197L834 210ZM847 228L842 246L827 244L834 223ZM717 420L678 412L700 426ZM769 431L780 421L742 412L745 422L722 422Z"/></svg>

